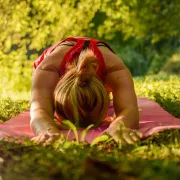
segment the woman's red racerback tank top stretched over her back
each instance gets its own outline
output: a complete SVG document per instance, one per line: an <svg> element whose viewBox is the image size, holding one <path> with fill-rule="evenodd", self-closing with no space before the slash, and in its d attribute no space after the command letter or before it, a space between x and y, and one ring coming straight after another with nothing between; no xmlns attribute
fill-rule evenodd
<svg viewBox="0 0 180 180"><path fill-rule="evenodd" d="M65 41L75 41L76 44L73 45L72 48L65 54L62 63L60 64L60 76L65 74L67 65L73 62L77 57L80 55L81 51L84 49L84 46L86 45L86 42L89 42L88 47L91 49L94 54L96 55L97 59L99 60L99 66L97 69L97 75L98 77L104 81L104 75L105 75L105 63L104 63L104 58L97 47L97 43L102 43L104 46L108 47L113 53L114 51L111 49L111 47L106 44L105 42L102 42L100 40L92 39L92 38L80 38L80 37L70 37L62 40L61 42L57 43L56 45L53 45L46 49L41 56L36 59L34 62L34 69L37 68L37 66L44 60L46 56L48 56L56 47L58 47L61 43Z"/></svg>

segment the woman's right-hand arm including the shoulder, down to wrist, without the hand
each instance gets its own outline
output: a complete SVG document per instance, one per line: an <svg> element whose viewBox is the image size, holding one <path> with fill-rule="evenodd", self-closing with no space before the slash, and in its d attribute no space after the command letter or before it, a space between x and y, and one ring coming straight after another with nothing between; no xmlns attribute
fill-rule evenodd
<svg viewBox="0 0 180 180"><path fill-rule="evenodd" d="M116 120L128 128L137 129L139 112L132 76L122 60L112 52L104 54L107 75L106 84L112 89Z"/></svg>

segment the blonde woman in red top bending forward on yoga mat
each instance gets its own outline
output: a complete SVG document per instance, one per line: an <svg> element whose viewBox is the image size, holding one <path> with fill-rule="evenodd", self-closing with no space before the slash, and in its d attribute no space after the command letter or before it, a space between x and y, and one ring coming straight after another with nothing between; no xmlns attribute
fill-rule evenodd
<svg viewBox="0 0 180 180"><path fill-rule="evenodd" d="M36 143L47 145L59 137L55 113L59 121L69 119L77 127L101 124L108 111L109 92L115 116L106 133L117 142L140 140L131 74L106 43L67 38L45 50L34 69L30 115Z"/></svg>

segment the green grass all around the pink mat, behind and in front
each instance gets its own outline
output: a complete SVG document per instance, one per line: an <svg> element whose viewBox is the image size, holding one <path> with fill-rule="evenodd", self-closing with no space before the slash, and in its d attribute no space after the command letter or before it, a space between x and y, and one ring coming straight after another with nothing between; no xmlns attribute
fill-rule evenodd
<svg viewBox="0 0 180 180"><path fill-rule="evenodd" d="M158 75L134 78L138 97L148 97L180 118L180 78ZM7 92L8 93L8 92ZM29 92L0 99L0 119L6 121L29 108ZM20 97L19 99L17 97ZM180 179L180 130L166 130L134 145L114 141L64 142L48 147L0 141L3 179ZM104 175L104 176L103 176ZM1 177L0 177L1 179ZM93 177L91 178L93 179ZM95 179L95 178L94 178Z"/></svg>

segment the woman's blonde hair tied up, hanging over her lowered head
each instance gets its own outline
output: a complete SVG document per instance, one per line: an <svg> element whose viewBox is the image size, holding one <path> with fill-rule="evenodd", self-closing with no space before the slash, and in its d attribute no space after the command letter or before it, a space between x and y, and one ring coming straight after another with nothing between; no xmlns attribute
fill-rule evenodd
<svg viewBox="0 0 180 180"><path fill-rule="evenodd" d="M94 53L89 49L82 51L54 91L55 111L76 126L98 124L108 110L108 93L96 75L96 65Z"/></svg>

